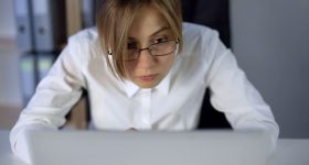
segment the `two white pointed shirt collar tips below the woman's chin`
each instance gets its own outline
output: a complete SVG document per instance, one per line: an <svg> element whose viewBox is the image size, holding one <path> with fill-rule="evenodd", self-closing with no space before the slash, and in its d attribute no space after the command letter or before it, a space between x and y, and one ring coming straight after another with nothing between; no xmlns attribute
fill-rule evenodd
<svg viewBox="0 0 309 165"><path fill-rule="evenodd" d="M169 74L162 79L162 81L157 87L153 87L152 90L157 90L157 91L161 92L162 95L169 95L170 81L171 81L171 74L170 73L171 72L169 72ZM129 98L135 96L141 89L142 88L138 87L137 85L135 85L130 80L127 80L127 79L125 80L125 90L126 90L126 94Z"/></svg>

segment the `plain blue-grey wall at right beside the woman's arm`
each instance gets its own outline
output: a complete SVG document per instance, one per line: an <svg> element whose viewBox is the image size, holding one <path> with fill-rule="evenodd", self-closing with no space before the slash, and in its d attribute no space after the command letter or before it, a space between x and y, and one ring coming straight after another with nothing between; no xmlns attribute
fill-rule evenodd
<svg viewBox="0 0 309 165"><path fill-rule="evenodd" d="M231 0L234 53L281 138L309 138L308 15L308 0Z"/></svg>

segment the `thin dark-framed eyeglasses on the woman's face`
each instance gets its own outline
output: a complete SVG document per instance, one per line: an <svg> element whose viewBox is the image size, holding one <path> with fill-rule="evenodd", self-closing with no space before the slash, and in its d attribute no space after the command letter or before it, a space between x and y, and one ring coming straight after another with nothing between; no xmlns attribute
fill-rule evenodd
<svg viewBox="0 0 309 165"><path fill-rule="evenodd" d="M139 48L136 43L128 43L128 51L124 55L125 62L134 62L139 59L142 51L148 51L151 56L166 56L170 55L177 50L178 40L159 38L152 42L146 48Z"/></svg>

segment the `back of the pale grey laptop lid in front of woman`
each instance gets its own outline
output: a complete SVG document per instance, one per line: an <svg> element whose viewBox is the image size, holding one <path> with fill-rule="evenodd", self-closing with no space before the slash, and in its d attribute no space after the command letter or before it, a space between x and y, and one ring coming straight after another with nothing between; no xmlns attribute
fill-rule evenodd
<svg viewBox="0 0 309 165"><path fill-rule="evenodd" d="M38 131L34 165L265 165L263 132Z"/></svg>

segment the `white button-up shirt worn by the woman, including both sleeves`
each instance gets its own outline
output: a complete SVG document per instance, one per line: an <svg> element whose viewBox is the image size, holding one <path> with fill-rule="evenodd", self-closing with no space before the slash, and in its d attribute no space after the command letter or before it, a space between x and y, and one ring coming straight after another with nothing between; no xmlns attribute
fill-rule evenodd
<svg viewBox="0 0 309 165"><path fill-rule="evenodd" d="M167 77L152 89L141 89L113 76L96 29L72 36L11 131L13 152L29 162L26 132L64 124L82 88L88 91L96 129L192 130L209 87L212 106L225 113L233 129L267 130L275 143L278 125L269 107L219 34L184 23L183 37L183 52L177 54Z"/></svg>

